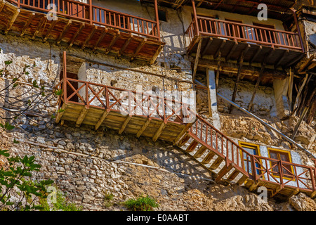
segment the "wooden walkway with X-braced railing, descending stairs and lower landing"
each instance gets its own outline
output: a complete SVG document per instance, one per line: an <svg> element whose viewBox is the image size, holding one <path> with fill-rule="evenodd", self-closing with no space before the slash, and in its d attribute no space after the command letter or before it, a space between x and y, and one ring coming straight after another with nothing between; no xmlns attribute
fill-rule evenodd
<svg viewBox="0 0 316 225"><path fill-rule="evenodd" d="M239 184L250 191L265 186L270 197L316 195L316 167L251 155L185 103L68 78L65 52L60 77L56 89L62 94L55 122L169 141L215 174L217 182Z"/></svg>

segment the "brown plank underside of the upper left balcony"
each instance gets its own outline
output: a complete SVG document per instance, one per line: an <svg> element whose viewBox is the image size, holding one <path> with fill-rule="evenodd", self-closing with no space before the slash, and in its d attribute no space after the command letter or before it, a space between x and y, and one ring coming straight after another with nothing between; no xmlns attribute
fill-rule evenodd
<svg viewBox="0 0 316 225"><path fill-rule="evenodd" d="M113 28L101 27L58 17L47 20L45 13L18 8L7 1L0 2L0 30L4 33L14 32L31 39L65 42L81 49L93 49L102 53L114 53L133 59L154 63L164 42L136 36Z"/></svg>

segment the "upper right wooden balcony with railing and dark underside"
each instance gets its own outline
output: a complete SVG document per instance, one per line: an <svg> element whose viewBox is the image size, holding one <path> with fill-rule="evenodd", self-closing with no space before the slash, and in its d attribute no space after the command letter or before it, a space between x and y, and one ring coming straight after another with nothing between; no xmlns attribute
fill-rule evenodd
<svg viewBox="0 0 316 225"><path fill-rule="evenodd" d="M266 58L266 65L278 68L303 57L299 34L294 32L196 16L186 34L189 54L199 50L201 57L211 56L213 60L239 61L243 56L244 62L262 65Z"/></svg>

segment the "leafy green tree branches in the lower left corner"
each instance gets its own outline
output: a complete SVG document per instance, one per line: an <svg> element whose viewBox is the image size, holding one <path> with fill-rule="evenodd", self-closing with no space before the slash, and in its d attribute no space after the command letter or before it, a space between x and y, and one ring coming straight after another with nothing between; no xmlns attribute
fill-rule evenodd
<svg viewBox="0 0 316 225"><path fill-rule="evenodd" d="M0 150L8 160L8 166L0 168L0 210L40 210L39 198L46 198L46 186L51 180L32 181L32 172L38 172L40 165L35 157L10 157L8 150ZM11 196L18 198L11 198Z"/></svg>

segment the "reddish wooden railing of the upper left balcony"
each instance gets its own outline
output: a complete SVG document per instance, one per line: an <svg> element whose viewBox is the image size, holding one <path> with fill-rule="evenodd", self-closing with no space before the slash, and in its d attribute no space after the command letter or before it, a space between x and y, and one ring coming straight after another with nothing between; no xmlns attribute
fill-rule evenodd
<svg viewBox="0 0 316 225"><path fill-rule="evenodd" d="M157 22L137 16L119 13L74 0L8 0L19 8L27 8L41 13L55 13L57 16L80 20L84 23L110 27L122 32L137 34L159 40Z"/></svg>

